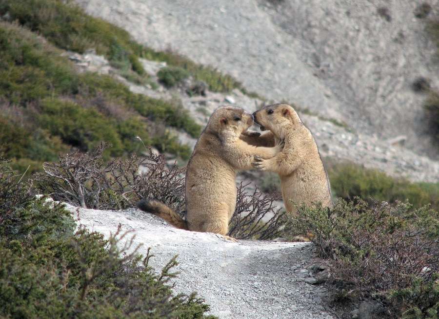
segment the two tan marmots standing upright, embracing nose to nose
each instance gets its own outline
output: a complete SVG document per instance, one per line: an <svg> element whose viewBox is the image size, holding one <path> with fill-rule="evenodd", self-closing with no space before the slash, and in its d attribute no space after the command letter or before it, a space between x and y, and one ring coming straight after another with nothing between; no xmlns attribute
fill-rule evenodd
<svg viewBox="0 0 439 319"><path fill-rule="evenodd" d="M253 117L262 130L270 132L259 136L248 131ZM215 110L187 165L187 221L160 201L142 200L138 207L175 227L230 239L226 235L236 205L236 173L252 168L279 173L289 212L295 211L291 201L332 206L328 178L311 132L291 106L279 104L253 116L233 106Z"/></svg>

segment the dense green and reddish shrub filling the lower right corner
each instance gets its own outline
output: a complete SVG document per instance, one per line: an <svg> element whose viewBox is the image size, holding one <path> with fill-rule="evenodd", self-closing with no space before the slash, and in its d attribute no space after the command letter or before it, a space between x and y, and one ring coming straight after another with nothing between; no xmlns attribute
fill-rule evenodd
<svg viewBox="0 0 439 319"><path fill-rule="evenodd" d="M390 318L437 318L428 314L439 304L439 213L401 202L373 204L357 197L333 209L300 206L286 235L313 234L335 295L379 299Z"/></svg>

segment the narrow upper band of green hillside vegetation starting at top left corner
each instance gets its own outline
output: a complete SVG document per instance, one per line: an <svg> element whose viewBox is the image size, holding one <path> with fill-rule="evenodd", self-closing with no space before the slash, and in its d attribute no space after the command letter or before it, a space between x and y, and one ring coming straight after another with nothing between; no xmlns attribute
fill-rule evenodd
<svg viewBox="0 0 439 319"><path fill-rule="evenodd" d="M8 14L33 32L65 50L83 53L94 48L114 66L131 69L140 76L144 70L139 58L166 62L187 70L196 80L204 81L211 91L227 92L245 89L229 75L209 66L196 64L172 52L160 52L136 43L125 30L87 15L73 3L61 0L5 0L0 4L0 15Z"/></svg>

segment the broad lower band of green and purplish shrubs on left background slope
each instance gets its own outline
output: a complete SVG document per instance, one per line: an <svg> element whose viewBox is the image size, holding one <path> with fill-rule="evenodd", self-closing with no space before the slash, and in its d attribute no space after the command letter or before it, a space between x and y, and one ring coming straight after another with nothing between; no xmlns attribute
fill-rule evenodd
<svg viewBox="0 0 439 319"><path fill-rule="evenodd" d="M78 74L60 50L17 25L0 22L0 44L0 97L10 106L22 106L25 123L1 117L0 148L8 158L17 159L17 168L27 158L34 161L35 169L39 161L56 160L67 145L87 150L100 139L113 144L113 154L140 151L135 136L147 144L152 140L149 124L137 114L184 129L194 137L200 133L200 126L181 104L134 94L108 76ZM65 102L66 98L71 102ZM187 146L177 145L170 136L167 141L168 152L188 157Z"/></svg>

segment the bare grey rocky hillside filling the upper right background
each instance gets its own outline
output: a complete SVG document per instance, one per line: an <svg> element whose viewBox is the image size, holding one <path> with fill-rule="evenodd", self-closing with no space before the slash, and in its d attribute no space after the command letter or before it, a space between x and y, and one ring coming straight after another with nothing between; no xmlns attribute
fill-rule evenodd
<svg viewBox="0 0 439 319"><path fill-rule="evenodd" d="M436 45L426 20L415 16L417 1L76 2L140 43L216 66L267 99L344 121L370 137L372 148L388 149L385 141L399 138L437 158L425 132L425 97L411 88L419 76L439 86ZM433 17L439 1L429 2ZM325 144L340 154L337 142ZM355 153L358 145L345 144L345 153Z"/></svg>

